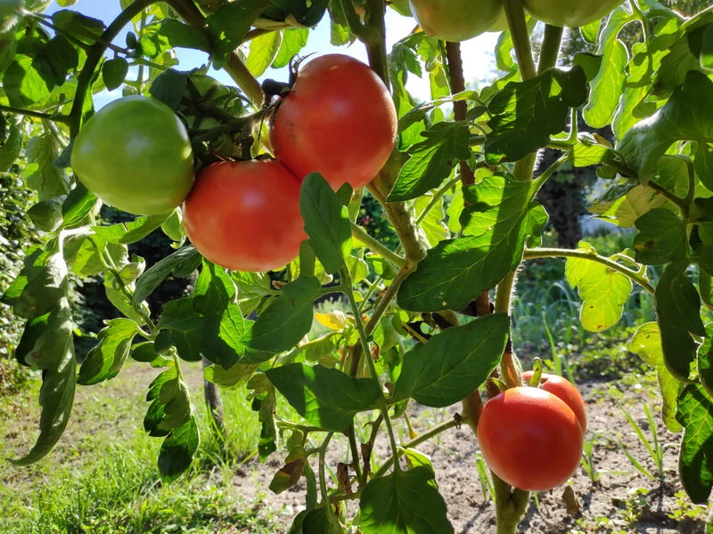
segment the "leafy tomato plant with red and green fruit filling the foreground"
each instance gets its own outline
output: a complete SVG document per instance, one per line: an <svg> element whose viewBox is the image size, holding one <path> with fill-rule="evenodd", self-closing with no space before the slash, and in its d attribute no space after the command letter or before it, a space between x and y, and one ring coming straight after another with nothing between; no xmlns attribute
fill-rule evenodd
<svg viewBox="0 0 713 534"><path fill-rule="evenodd" d="M713 12L676 2L696 7L684 18L655 0L504 2L495 64L477 84L466 47L438 37L501 29L492 0L413 0L425 31L412 31L406 0L92 4L112 4L111 21L70 0L0 3L0 173L32 190L8 198L37 198L27 213L43 232L0 297L24 321L14 359L42 381L37 441L13 461L49 454L77 384L111 380L132 359L160 373L143 425L163 440L158 473L174 480L204 454L182 366L205 359L212 384L250 397L261 468L283 462L271 489L307 488L291 531L453 532L441 475L416 448L467 425L495 473L497 532L513 534L527 490L576 468L586 427L571 384L520 386L512 347L516 273L565 261L578 333L652 303L621 349L657 375L662 421L682 433L681 484L707 502ZM334 53L293 61L316 24L335 45L364 45L368 66ZM576 50L561 50L561 26L581 25ZM294 84L273 100L259 79L289 65ZM223 74L208 77L214 68ZM126 97L92 117L114 91ZM545 184L602 191L589 213L628 229L631 246L543 246ZM92 193L141 216L112 224ZM129 247L156 231L173 252L147 265ZM192 278L191 294L152 310L147 299L176 277ZM101 279L117 313L87 334L86 359L75 352L77 279ZM341 314L324 309L335 294ZM414 437L414 403L461 409Z"/></svg>

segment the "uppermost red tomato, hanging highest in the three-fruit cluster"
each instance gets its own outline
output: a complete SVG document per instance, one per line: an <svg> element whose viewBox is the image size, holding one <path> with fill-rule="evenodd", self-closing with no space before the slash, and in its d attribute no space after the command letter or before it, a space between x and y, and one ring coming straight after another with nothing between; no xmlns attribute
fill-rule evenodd
<svg viewBox="0 0 713 534"><path fill-rule="evenodd" d="M381 78L333 53L309 61L275 111L270 145L301 180L321 173L332 189L371 182L389 158L397 115Z"/></svg>

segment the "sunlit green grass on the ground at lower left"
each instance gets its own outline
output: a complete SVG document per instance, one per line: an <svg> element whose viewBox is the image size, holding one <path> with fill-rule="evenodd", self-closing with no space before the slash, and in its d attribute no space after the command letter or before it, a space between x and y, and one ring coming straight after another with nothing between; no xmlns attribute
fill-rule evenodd
<svg viewBox="0 0 713 534"><path fill-rule="evenodd" d="M135 365L135 364L134 364ZM188 367L188 366L186 366ZM70 427L36 465L0 463L0 524L4 534L274 532L269 508L250 502L232 477L234 461L250 456L259 434L244 389L224 392L227 454L209 431L200 368L192 368L193 402L201 430L195 468L160 481L160 439L143 433L145 384L136 373L80 388ZM198 375L198 376L197 376ZM38 384L0 399L0 446L18 456L35 437Z"/></svg>

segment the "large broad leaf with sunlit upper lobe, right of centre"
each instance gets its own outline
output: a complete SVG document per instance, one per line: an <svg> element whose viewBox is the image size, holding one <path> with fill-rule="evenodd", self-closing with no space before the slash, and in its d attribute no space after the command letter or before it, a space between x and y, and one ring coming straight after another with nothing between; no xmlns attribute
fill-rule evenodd
<svg viewBox="0 0 713 534"><path fill-rule="evenodd" d="M399 305L419 312L460 310L495 287L520 264L529 236L547 220L542 206L531 201L531 187L496 174L464 188L470 203L461 217L466 235L429 250L399 288Z"/></svg>

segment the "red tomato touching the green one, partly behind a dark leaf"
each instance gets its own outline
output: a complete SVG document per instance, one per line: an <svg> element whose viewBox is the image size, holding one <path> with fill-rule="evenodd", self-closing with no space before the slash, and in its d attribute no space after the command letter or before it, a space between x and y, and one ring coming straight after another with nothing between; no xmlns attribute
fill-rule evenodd
<svg viewBox="0 0 713 534"><path fill-rule="evenodd" d="M299 180L276 161L207 166L184 203L193 247L233 271L271 271L290 263L307 239L303 226Z"/></svg>

